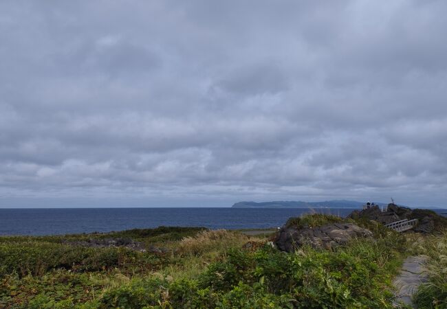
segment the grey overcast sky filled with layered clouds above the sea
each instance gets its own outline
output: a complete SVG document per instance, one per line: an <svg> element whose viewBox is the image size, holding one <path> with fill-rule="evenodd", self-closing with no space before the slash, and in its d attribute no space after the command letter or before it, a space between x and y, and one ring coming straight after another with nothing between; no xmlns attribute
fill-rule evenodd
<svg viewBox="0 0 447 309"><path fill-rule="evenodd" d="M0 2L0 207L447 206L447 1Z"/></svg>

